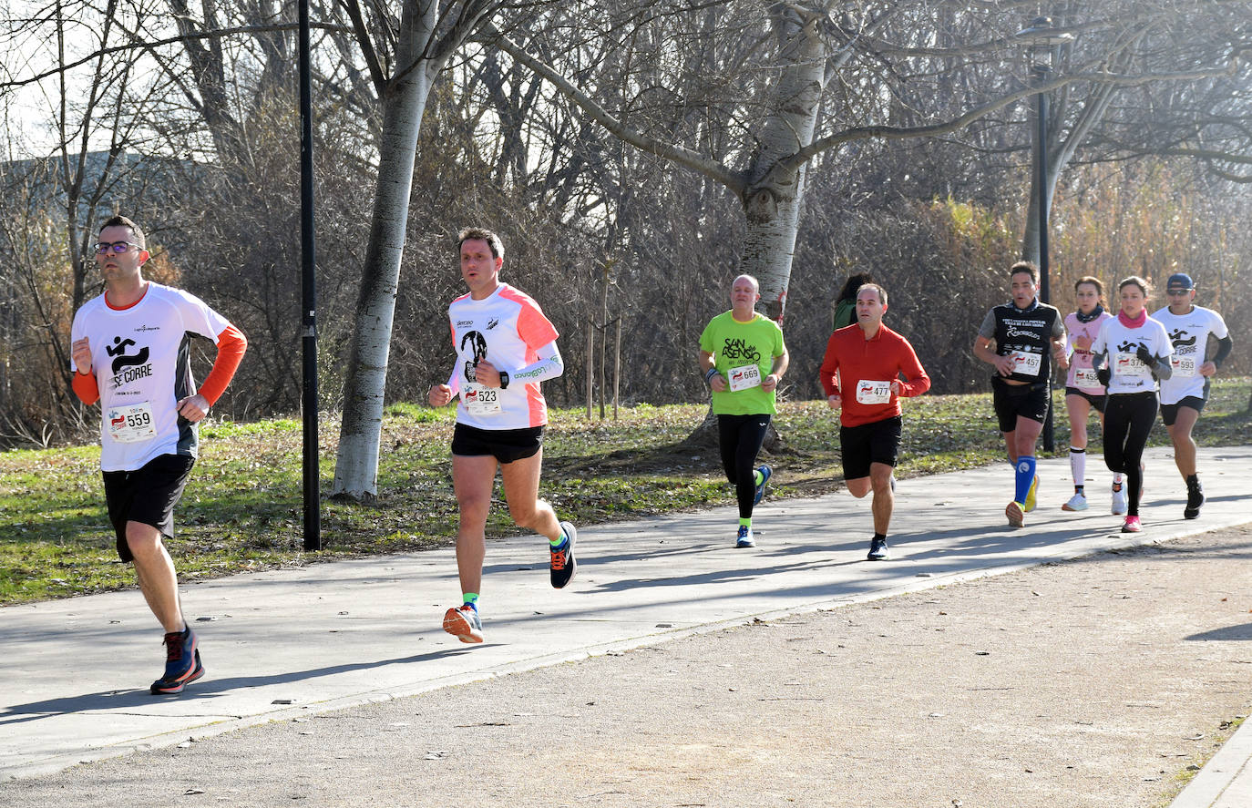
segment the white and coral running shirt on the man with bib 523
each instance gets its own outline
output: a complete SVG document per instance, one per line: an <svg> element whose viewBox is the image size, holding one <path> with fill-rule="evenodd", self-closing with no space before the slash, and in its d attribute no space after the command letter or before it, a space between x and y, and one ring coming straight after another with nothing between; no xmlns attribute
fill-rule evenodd
<svg viewBox="0 0 1252 808"><path fill-rule="evenodd" d="M556 340L557 331L540 304L523 291L500 284L482 300L464 294L448 306L457 366L448 380L461 394L457 423L478 429L528 429L547 424L547 404L538 381L513 374L535 364L538 349ZM486 359L510 374L507 389L486 388L473 378Z"/></svg>

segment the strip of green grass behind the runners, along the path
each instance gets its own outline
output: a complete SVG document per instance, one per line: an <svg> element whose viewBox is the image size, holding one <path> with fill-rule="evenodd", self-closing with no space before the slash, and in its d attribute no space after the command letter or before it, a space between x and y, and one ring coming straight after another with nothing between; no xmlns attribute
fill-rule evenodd
<svg viewBox="0 0 1252 808"><path fill-rule="evenodd" d="M1060 407L1062 396L1057 394ZM1203 445L1252 443L1248 379L1214 384L1196 429ZM730 504L716 447L686 442L705 404L623 408L617 422L553 410L545 433L541 495L562 518L593 524ZM1068 447L1064 409L1055 445ZM324 550L300 552L302 425L294 419L213 422L175 514L170 543L184 580L447 545L456 532L448 444L453 410L393 404L383 423L378 499L322 503ZM926 395L904 403L898 477L965 469L1003 458L989 395ZM814 495L841 484L839 427L824 401L791 401L775 419L784 444L771 497ZM1090 420L1094 449L1099 424ZM322 490L334 475L338 422L321 427ZM1168 445L1159 424L1152 445ZM131 587L116 560L95 447L0 453L0 603L23 603ZM497 487L497 495L500 495ZM488 535L517 533L508 510L492 510Z"/></svg>

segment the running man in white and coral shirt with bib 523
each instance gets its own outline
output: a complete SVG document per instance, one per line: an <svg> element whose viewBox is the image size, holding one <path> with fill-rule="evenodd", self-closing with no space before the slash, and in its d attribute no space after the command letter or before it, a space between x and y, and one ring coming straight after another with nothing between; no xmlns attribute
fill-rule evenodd
<svg viewBox="0 0 1252 808"><path fill-rule="evenodd" d="M452 433L452 488L461 510L462 605L447 610L443 630L463 643L481 643L478 594L496 469L513 522L547 537L550 579L557 589L573 578L577 532L538 498L547 424L540 383L565 370L556 328L532 298L500 281L505 245L498 235L468 228L458 243L461 278L470 291L448 306L457 360L448 383L431 388L428 400L431 407L443 407L461 395Z"/></svg>

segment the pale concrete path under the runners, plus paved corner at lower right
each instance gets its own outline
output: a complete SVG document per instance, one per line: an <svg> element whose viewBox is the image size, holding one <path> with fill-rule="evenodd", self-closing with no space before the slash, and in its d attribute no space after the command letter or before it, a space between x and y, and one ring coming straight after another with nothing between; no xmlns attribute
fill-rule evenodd
<svg viewBox="0 0 1252 808"><path fill-rule="evenodd" d="M1040 464L1040 508L1025 530L1004 524L1004 497L984 500L984 492L1007 490L1003 465L903 480L895 560L885 564L863 560L869 507L846 493L766 500L754 550L731 547L727 508L586 527L578 577L565 592L547 584L541 542L493 542L483 593L487 643L472 648L439 629L443 610L459 599L451 550L207 582L185 588L184 605L197 620L208 674L175 698L146 692L160 664L160 634L136 593L11 607L0 625L0 775L30 777L189 734L1242 524L1252 519L1249 462L1252 448L1202 450L1209 502L1201 519L1187 522L1169 453L1149 450L1147 528L1138 535L1119 532L1098 485L1090 510L1059 510L1070 493L1065 460ZM1090 472L1107 479L1098 458ZM1176 808L1252 805L1249 758L1252 730L1244 729Z"/></svg>

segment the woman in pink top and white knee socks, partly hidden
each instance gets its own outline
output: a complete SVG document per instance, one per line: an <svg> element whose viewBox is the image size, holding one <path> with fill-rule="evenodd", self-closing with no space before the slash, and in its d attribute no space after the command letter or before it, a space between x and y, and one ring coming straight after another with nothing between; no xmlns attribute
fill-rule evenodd
<svg viewBox="0 0 1252 808"><path fill-rule="evenodd" d="M1079 278L1074 284L1078 310L1065 315L1065 333L1072 354L1065 376L1065 410L1069 413L1069 470L1074 475L1074 495L1060 508L1087 510L1087 419L1094 409L1104 423L1104 385L1096 378L1092 366L1092 344L1099 335L1104 320L1112 314L1104 310L1104 284L1098 278ZM1126 513L1126 492L1121 474L1113 475L1113 513Z"/></svg>

